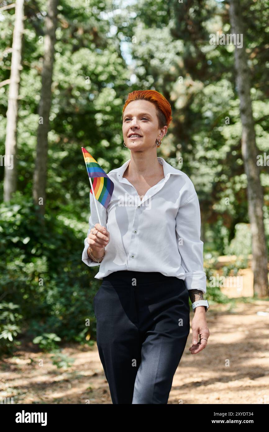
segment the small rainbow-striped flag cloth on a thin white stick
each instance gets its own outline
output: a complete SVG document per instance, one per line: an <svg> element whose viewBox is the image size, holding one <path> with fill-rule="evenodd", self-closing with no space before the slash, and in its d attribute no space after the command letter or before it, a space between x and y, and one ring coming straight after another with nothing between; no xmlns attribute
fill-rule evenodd
<svg viewBox="0 0 269 432"><path fill-rule="evenodd" d="M101 203L102 206L107 209L114 190L114 183L106 175L104 170L96 162L92 155L90 155L90 153L84 147L81 147L81 149L89 178L93 179L92 187L94 191L94 196L99 201L99 203ZM90 190L91 193L92 187Z"/></svg>

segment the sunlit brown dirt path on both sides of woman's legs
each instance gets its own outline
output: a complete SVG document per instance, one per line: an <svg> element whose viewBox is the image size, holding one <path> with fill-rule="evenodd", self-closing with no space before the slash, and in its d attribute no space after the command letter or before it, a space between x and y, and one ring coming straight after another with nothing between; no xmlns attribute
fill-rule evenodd
<svg viewBox="0 0 269 432"><path fill-rule="evenodd" d="M257 314L268 313L269 302L229 308L209 308L209 342L199 354L190 354L190 333L168 403L269 404L269 314ZM75 359L66 369L57 369L51 354L24 348L0 362L1 397L13 397L13 403L111 403L96 344L63 348Z"/></svg>

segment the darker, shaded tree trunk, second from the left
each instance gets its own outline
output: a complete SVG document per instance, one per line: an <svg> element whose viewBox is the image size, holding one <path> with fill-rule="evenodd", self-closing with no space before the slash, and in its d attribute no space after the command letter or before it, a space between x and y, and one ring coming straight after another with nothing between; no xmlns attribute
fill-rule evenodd
<svg viewBox="0 0 269 432"><path fill-rule="evenodd" d="M51 110L51 83L54 64L54 44L57 27L58 0L48 0L47 17L45 19L44 58L42 70L42 87L38 108L38 130L35 171L33 178L33 198L39 205L42 215L45 213L47 184L47 134L49 131L49 115Z"/></svg>

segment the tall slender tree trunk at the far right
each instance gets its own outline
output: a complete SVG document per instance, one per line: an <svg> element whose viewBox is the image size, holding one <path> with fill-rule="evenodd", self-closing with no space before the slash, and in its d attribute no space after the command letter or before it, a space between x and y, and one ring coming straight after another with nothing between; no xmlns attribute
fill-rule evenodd
<svg viewBox="0 0 269 432"><path fill-rule="evenodd" d="M256 137L253 122L250 97L250 72L247 65L247 54L244 47L244 20L241 14L240 2L230 0L229 15L232 33L243 35L243 47L235 45L234 58L236 69L236 84L240 98L242 122L242 156L247 175L248 213L252 235L252 270L254 273L254 294L259 297L269 295L267 246L263 222L263 188L260 183L260 169L256 156Z"/></svg>

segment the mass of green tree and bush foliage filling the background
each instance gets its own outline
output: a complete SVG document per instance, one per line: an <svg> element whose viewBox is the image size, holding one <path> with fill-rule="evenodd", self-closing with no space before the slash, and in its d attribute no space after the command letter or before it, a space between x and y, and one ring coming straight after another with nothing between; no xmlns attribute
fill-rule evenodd
<svg viewBox="0 0 269 432"><path fill-rule="evenodd" d="M264 2L242 0L242 13L256 144L262 153L268 150L269 139L269 8ZM81 146L106 172L129 159L121 114L133 90L156 89L171 103L173 122L158 155L186 172L195 185L205 255L243 255L223 269L228 275L244 268L245 255L251 253L233 47L209 44L210 33L231 29L227 2L138 0L122 7L112 0L67 0L58 5L44 224L32 203L32 178L47 2L40 0L34 9L25 3L24 14L18 190L11 203L0 204L0 301L12 301L16 308L0 310L0 353L19 343L22 328L31 340L38 337L44 349L65 341L92 343L92 299L100 281L94 278L96 267L81 261L89 218L89 180ZM0 155L5 154L14 21L14 8L4 10L0 82L6 84L0 88ZM269 249L268 166L260 172ZM3 173L0 169L0 199ZM207 266L205 260L205 269L209 280L215 264ZM207 298L227 300L219 288L211 287ZM60 340L50 340L47 334Z"/></svg>

